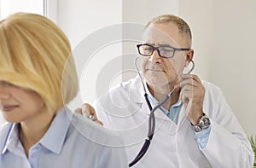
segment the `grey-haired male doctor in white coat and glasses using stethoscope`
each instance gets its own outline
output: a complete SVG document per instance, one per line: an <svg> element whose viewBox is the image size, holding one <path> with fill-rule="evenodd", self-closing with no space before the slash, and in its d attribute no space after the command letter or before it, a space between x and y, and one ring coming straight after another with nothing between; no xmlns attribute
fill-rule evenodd
<svg viewBox="0 0 256 168"><path fill-rule="evenodd" d="M175 15L149 21L144 42L137 45L143 57L143 84L137 76L113 87L96 101L96 113L87 113L105 127L120 130L132 160L148 131L150 111L143 85L153 107L174 89L156 110L154 138L134 167L252 167L253 150L221 90L183 73L194 55L191 40L188 24Z"/></svg>

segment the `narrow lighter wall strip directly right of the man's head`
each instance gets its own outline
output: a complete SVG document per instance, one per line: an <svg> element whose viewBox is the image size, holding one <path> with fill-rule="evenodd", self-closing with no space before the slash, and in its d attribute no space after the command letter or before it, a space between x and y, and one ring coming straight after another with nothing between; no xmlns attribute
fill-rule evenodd
<svg viewBox="0 0 256 168"><path fill-rule="evenodd" d="M194 73L204 80L209 80L214 37L212 0L180 0L178 9L178 15L188 22L192 31L192 48L195 49Z"/></svg>

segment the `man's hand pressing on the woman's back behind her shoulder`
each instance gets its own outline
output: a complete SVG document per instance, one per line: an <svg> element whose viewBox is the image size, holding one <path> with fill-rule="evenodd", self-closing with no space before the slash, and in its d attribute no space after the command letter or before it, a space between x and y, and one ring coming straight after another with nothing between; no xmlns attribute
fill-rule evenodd
<svg viewBox="0 0 256 168"><path fill-rule="evenodd" d="M102 121L97 119L95 109L88 103L84 103L81 108L77 108L74 113L82 114L84 117L93 120L99 125L103 125Z"/></svg>

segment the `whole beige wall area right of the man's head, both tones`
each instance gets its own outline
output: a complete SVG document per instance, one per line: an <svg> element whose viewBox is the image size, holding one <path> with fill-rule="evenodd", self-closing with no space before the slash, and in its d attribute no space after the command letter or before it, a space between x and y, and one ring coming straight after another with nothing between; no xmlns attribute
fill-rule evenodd
<svg viewBox="0 0 256 168"><path fill-rule="evenodd" d="M247 135L255 135L256 1L179 2L193 31L197 72L223 90Z"/></svg>

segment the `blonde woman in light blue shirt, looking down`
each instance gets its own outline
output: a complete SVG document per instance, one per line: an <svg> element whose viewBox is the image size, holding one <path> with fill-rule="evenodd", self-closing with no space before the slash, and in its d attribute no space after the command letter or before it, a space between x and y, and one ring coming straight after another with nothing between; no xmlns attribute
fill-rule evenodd
<svg viewBox="0 0 256 168"><path fill-rule="evenodd" d="M52 21L12 14L0 22L0 167L127 167L121 144L65 105L78 92L71 47Z"/></svg>

